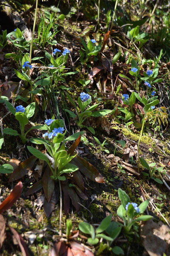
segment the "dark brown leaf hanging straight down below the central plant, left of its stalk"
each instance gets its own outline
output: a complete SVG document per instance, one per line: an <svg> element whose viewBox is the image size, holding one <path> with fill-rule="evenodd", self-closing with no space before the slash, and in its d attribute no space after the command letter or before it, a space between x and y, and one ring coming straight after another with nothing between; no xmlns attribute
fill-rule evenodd
<svg viewBox="0 0 170 256"><path fill-rule="evenodd" d="M50 170L50 167L47 165L44 175L42 177L42 186L44 188L45 197L47 199L47 202L49 203L54 191L54 180L50 177L52 175L52 172Z"/></svg>

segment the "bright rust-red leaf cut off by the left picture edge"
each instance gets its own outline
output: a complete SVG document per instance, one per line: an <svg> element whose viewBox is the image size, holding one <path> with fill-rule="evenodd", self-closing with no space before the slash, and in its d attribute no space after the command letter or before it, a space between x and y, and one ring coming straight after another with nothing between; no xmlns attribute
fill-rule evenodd
<svg viewBox="0 0 170 256"><path fill-rule="evenodd" d="M19 181L10 195L7 196L7 198L5 198L5 200L0 204L0 214L9 209L17 201L21 196L22 187L22 182Z"/></svg>

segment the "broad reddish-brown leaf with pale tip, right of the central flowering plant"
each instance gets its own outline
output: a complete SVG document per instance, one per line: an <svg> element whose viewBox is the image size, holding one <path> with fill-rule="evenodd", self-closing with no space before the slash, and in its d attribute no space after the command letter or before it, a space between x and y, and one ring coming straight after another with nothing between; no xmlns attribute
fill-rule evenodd
<svg viewBox="0 0 170 256"><path fill-rule="evenodd" d="M75 158L72 159L71 163L79 167L80 172L82 172L85 176L90 178L90 180L96 181L98 183L104 183L104 179L100 174L100 172L98 172L93 165L91 165L89 162L87 162L83 158L80 158L79 156L75 156Z"/></svg>

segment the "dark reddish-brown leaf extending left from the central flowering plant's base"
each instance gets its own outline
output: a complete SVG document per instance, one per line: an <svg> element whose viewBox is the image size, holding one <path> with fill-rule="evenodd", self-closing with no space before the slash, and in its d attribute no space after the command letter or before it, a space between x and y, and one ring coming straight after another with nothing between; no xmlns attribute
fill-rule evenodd
<svg viewBox="0 0 170 256"><path fill-rule="evenodd" d="M26 175L27 172L33 167L36 159L37 158L32 155L30 158L19 164L18 167L12 172L9 181L18 180L19 178L22 178L24 175Z"/></svg>

